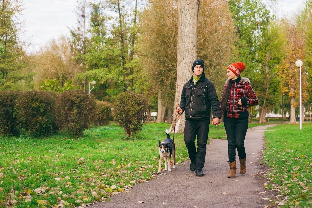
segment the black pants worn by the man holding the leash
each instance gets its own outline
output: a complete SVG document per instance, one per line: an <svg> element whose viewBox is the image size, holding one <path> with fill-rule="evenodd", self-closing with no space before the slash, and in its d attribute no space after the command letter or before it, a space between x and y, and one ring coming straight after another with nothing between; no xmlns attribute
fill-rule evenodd
<svg viewBox="0 0 312 208"><path fill-rule="evenodd" d="M196 170L201 170L205 164L207 140L210 120L186 119L184 127L184 141L188 148L191 162L196 162ZM197 152L195 139L197 136Z"/></svg>

